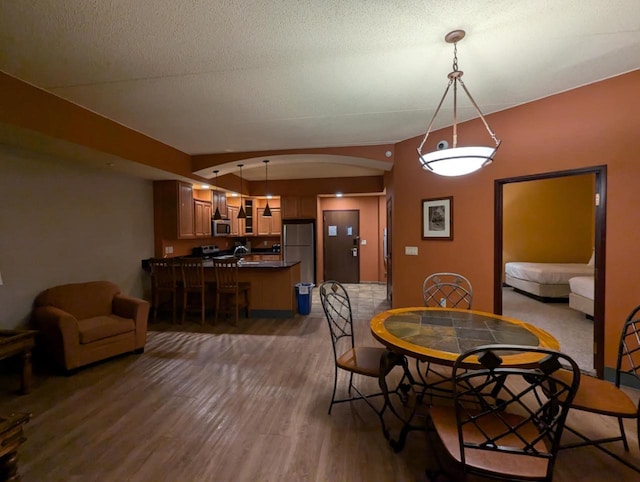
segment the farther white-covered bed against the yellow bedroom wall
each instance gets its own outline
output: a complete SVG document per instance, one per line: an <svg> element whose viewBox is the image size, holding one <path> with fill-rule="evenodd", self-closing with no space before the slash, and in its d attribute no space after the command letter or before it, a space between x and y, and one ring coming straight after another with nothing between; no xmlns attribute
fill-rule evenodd
<svg viewBox="0 0 640 482"><path fill-rule="evenodd" d="M593 276L589 263L530 263L511 261L505 264L505 284L534 297L568 298L569 280L577 276Z"/></svg>

